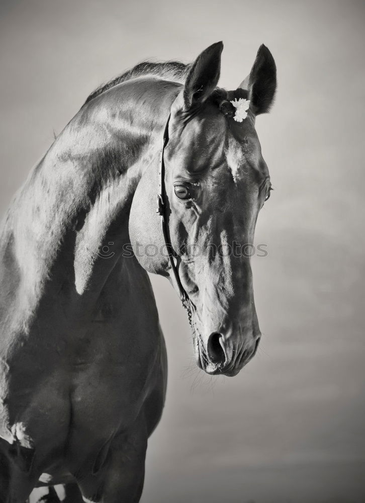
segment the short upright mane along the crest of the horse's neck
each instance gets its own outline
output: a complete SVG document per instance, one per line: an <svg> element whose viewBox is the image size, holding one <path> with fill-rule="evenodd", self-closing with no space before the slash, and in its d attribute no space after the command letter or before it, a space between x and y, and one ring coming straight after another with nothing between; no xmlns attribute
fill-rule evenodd
<svg viewBox="0 0 365 503"><path fill-rule="evenodd" d="M161 78L168 78L169 80L175 82L184 83L190 68L191 64L184 64L180 61L143 61L97 88L87 97L84 105L86 105L89 101L94 100L94 98L103 94L105 91L108 91L108 89L118 86L121 82L125 82L126 80L131 80L132 78L140 77L142 75L156 75Z"/></svg>

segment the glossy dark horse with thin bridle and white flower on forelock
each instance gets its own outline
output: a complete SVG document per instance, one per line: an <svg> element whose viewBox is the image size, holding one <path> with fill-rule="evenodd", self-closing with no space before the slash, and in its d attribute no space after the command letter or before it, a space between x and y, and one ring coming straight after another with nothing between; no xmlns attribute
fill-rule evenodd
<svg viewBox="0 0 365 503"><path fill-rule="evenodd" d="M0 237L1 503L56 484L139 501L167 379L147 273L180 296L200 369L235 376L257 350L250 260L227 248L252 243L270 194L255 117L276 65L261 45L226 91L222 49L97 89L14 196Z"/></svg>

